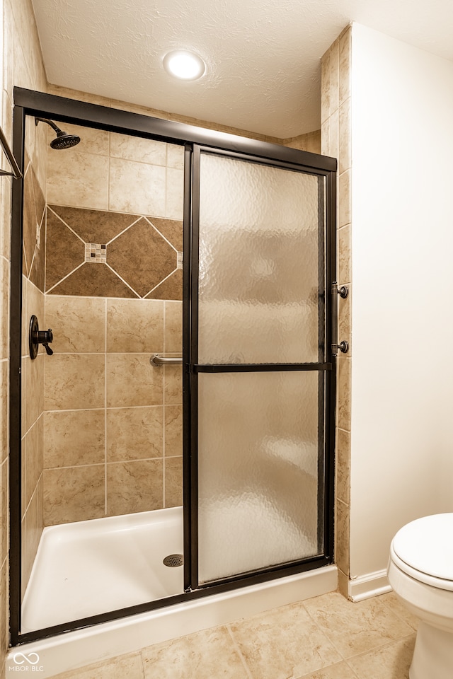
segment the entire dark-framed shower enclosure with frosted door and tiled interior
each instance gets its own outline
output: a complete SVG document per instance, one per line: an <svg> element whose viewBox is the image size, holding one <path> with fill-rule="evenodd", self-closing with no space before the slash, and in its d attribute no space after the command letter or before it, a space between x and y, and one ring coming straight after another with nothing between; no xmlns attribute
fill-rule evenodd
<svg viewBox="0 0 453 679"><path fill-rule="evenodd" d="M331 564L336 161L15 104L13 644Z"/></svg>

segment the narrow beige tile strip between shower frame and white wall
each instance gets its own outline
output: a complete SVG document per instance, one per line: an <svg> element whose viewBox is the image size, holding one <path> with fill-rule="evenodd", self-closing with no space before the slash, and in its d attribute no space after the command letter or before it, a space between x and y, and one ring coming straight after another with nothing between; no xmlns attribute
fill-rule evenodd
<svg viewBox="0 0 453 679"><path fill-rule="evenodd" d="M350 389L351 389L351 218L350 218L350 54L351 28L331 45L321 61L321 153L338 158L338 284L349 296L338 299L338 338L348 340L348 354L338 356L336 420L336 563L340 591L348 595L350 536Z"/></svg>

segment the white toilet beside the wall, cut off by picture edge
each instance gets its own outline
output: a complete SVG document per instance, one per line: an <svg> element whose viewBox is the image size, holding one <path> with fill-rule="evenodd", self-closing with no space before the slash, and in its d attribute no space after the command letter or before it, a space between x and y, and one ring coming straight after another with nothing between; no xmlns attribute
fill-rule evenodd
<svg viewBox="0 0 453 679"><path fill-rule="evenodd" d="M410 679L453 678L453 513L418 518L390 547L389 582L420 618Z"/></svg>

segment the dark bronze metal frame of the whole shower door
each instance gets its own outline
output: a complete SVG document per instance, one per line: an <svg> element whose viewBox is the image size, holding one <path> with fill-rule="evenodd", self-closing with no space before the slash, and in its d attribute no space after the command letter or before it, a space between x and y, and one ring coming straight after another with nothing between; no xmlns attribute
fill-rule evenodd
<svg viewBox="0 0 453 679"><path fill-rule="evenodd" d="M297 151L276 144L236 137L223 132L191 127L187 124L115 110L90 103L15 88L13 153L23 170L25 115L52 118L59 122L85 125L109 132L185 146L184 253L183 271L183 506L184 506L184 589L177 596L109 611L102 615L73 620L54 627L21 634L21 296L22 296L22 210L23 180L13 182L11 228L11 372L10 372L10 627L13 646L52 637L74 629L116 620L145 611L163 608L211 593L258 584L333 562L333 451L335 439L336 359L332 354L333 319L331 287L336 285L336 159ZM323 383L320 418L319 499L323 516L320 526L322 549L315 557L249 571L200 585L198 579L197 526L197 380L202 372L265 371L272 366L201 366L197 364L197 224L200 177L200 151L217 151L224 156L248 159L289 168L319 177L325 185L323 202L324 272L320 285L323 310L322 360L316 364L279 364L284 371L313 371ZM190 255L190 257L189 257ZM190 262L190 265L189 265Z"/></svg>

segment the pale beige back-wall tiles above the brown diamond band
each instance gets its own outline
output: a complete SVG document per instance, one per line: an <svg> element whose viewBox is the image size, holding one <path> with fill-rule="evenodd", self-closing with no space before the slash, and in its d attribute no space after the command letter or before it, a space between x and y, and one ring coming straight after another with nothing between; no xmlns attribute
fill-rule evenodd
<svg viewBox="0 0 453 679"><path fill-rule="evenodd" d="M49 151L49 204L180 219L183 146L78 125L64 129L81 141L64 153ZM51 129L48 135L55 137Z"/></svg>

